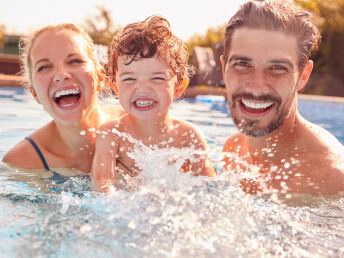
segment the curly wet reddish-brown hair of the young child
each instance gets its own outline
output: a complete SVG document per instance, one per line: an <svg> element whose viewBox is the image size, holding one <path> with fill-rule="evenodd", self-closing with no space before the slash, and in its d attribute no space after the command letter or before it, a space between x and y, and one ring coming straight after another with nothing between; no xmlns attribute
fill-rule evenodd
<svg viewBox="0 0 344 258"><path fill-rule="evenodd" d="M116 78L120 56L127 57L127 65L142 58L157 57L170 66L178 83L192 73L185 44L172 34L170 23L162 16L150 16L142 22L131 23L112 40L107 65L112 81Z"/></svg>

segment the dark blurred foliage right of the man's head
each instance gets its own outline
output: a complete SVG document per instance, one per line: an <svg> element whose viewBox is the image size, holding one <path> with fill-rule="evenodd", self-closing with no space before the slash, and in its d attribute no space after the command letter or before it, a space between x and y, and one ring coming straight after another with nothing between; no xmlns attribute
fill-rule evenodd
<svg viewBox="0 0 344 258"><path fill-rule="evenodd" d="M313 14L322 41L305 93L344 96L344 0L295 0Z"/></svg>

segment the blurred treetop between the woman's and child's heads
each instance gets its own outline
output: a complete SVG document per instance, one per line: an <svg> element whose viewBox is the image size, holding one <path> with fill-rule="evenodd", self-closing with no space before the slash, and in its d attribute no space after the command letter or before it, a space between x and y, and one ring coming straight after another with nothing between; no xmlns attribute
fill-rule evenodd
<svg viewBox="0 0 344 258"><path fill-rule="evenodd" d="M112 38L118 33L120 26L115 25L111 11L104 6L96 6L98 14L85 20L84 29L95 44L110 45Z"/></svg>

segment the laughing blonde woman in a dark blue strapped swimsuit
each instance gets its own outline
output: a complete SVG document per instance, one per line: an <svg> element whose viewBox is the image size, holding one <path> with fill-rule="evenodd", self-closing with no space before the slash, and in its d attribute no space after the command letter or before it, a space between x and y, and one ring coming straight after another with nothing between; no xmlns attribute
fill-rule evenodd
<svg viewBox="0 0 344 258"><path fill-rule="evenodd" d="M52 177L59 168L89 173L95 131L123 113L119 106L104 110L98 104L105 77L92 40L74 24L59 24L23 38L21 47L27 87L53 120L10 149L3 161L45 169Z"/></svg>

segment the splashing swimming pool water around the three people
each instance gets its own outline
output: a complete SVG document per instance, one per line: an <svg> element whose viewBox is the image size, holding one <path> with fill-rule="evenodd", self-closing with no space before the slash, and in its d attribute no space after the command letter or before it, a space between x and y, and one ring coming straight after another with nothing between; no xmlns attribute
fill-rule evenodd
<svg viewBox="0 0 344 258"><path fill-rule="evenodd" d="M22 89L0 88L0 100L2 158L50 118ZM299 109L344 143L344 104L300 99ZM199 126L218 164L225 139L236 132L224 99L181 100L172 113ZM92 191L88 177L54 185L4 164L0 171L2 257L344 255L342 196L278 204L243 194L224 173L196 178L169 167L151 167L144 184L105 196Z"/></svg>

